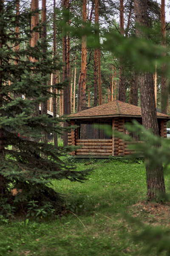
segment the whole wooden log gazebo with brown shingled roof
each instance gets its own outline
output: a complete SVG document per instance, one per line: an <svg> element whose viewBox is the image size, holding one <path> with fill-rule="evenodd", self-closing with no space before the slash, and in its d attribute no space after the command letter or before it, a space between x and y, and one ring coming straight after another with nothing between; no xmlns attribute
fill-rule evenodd
<svg viewBox="0 0 170 256"><path fill-rule="evenodd" d="M70 125L79 127L68 133L68 145L82 147L71 154L77 156L125 156L131 154L127 148L128 142L108 135L100 125L111 125L113 130L125 134L125 123L136 119L142 124L141 108L116 100L94 108L88 108L68 116ZM157 113L159 134L167 137L167 121L170 116ZM98 128L94 127L97 124ZM102 126L101 126L102 128Z"/></svg>

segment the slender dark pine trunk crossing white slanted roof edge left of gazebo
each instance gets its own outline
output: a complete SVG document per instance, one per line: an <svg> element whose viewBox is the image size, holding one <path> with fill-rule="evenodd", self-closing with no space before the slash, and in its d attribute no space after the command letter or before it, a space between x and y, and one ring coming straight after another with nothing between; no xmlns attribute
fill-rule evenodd
<svg viewBox="0 0 170 256"><path fill-rule="evenodd" d="M55 9L56 9L56 1L54 0L54 13L53 13L54 58L57 54L57 52L56 52L56 14L55 14ZM53 74L53 88L54 88L53 92L55 94L55 96L53 97L53 117L54 118L56 118L56 116L57 116L57 98L56 98L57 89L55 88L55 84L57 84L57 70ZM57 126L56 123L54 123L53 126ZM57 133L54 132L53 136L54 136L54 145L57 146L58 145Z"/></svg>

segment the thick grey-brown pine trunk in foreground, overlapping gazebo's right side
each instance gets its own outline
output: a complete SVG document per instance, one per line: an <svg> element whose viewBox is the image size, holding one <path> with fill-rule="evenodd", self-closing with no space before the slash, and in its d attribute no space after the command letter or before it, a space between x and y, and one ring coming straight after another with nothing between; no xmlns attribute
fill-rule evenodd
<svg viewBox="0 0 170 256"><path fill-rule="evenodd" d="M147 0L135 0L134 11L136 23L148 27L149 19L147 15ZM139 28L136 29L136 35L144 36ZM153 134L159 135L158 121L156 115L156 104L154 97L153 74L149 72L140 74L140 93L142 124L146 129L153 129ZM162 163L157 166L151 166L150 161L146 160L147 175L147 199L159 200L160 193L165 193L164 172Z"/></svg>

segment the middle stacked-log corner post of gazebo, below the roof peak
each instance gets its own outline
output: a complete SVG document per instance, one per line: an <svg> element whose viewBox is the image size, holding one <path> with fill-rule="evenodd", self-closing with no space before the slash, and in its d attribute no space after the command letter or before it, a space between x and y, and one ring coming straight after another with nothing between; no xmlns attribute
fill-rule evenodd
<svg viewBox="0 0 170 256"><path fill-rule="evenodd" d="M124 118L114 118L112 122L112 128L114 131L120 131L122 133L125 132L125 119ZM124 140L113 137L113 149L112 149L112 155L113 156L124 156L125 155L125 142Z"/></svg>

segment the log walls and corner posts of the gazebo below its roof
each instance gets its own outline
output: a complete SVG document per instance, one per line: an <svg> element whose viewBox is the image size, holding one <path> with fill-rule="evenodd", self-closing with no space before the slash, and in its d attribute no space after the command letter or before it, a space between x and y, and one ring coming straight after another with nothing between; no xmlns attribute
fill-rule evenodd
<svg viewBox="0 0 170 256"><path fill-rule="evenodd" d="M71 122L75 125L75 122ZM114 118L112 121L112 128L115 131L125 133L125 119ZM160 135L167 137L167 120L161 119L160 122ZM134 142L133 142L134 143ZM136 143L140 143L139 141ZM124 141L118 137L112 139L79 139L78 128L71 130L68 133L68 145L81 145L82 147L76 151L71 152L72 155L96 155L96 156L125 156L133 154L133 150L128 148L130 142Z"/></svg>

